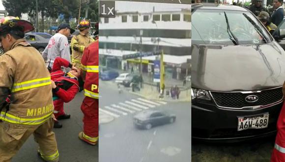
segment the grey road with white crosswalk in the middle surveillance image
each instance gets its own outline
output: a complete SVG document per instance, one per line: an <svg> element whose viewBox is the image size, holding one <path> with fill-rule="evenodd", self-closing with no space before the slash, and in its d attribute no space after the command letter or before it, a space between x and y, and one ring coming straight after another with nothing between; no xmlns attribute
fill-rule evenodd
<svg viewBox="0 0 285 162"><path fill-rule="evenodd" d="M100 96L100 112L114 117L100 126L100 162L189 162L189 102L146 100L128 91L119 94L112 81L100 81ZM176 121L138 130L133 126L133 116L143 109L167 110L176 114Z"/></svg>

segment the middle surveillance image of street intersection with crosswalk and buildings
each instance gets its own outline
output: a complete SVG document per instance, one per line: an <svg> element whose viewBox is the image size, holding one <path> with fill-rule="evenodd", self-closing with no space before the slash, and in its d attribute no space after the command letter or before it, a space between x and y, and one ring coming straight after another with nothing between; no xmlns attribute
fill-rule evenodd
<svg viewBox="0 0 285 162"><path fill-rule="evenodd" d="M115 7L99 24L99 161L189 162L190 5Z"/></svg>

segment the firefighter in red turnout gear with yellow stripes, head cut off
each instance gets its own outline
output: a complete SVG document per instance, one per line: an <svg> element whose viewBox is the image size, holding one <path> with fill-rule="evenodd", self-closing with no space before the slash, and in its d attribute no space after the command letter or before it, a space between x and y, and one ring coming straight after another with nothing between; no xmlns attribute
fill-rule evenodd
<svg viewBox="0 0 285 162"><path fill-rule="evenodd" d="M83 69L85 99L81 105L84 114L83 132L79 138L83 141L96 145L98 142L98 118L99 118L99 41L96 40L84 51L81 66Z"/></svg>

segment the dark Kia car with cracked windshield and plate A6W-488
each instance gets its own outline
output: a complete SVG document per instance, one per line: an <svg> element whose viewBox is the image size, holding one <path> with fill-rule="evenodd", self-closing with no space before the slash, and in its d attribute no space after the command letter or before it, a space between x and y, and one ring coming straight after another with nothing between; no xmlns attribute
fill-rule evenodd
<svg viewBox="0 0 285 162"><path fill-rule="evenodd" d="M240 141L276 133L285 51L274 38L246 8L192 5L193 138Z"/></svg>

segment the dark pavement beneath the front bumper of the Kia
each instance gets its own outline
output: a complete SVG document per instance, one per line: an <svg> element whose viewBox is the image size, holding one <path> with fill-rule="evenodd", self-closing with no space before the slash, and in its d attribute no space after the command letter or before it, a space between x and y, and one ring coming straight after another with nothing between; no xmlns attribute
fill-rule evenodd
<svg viewBox="0 0 285 162"><path fill-rule="evenodd" d="M275 136L242 143L192 143L191 162L270 162Z"/></svg>

